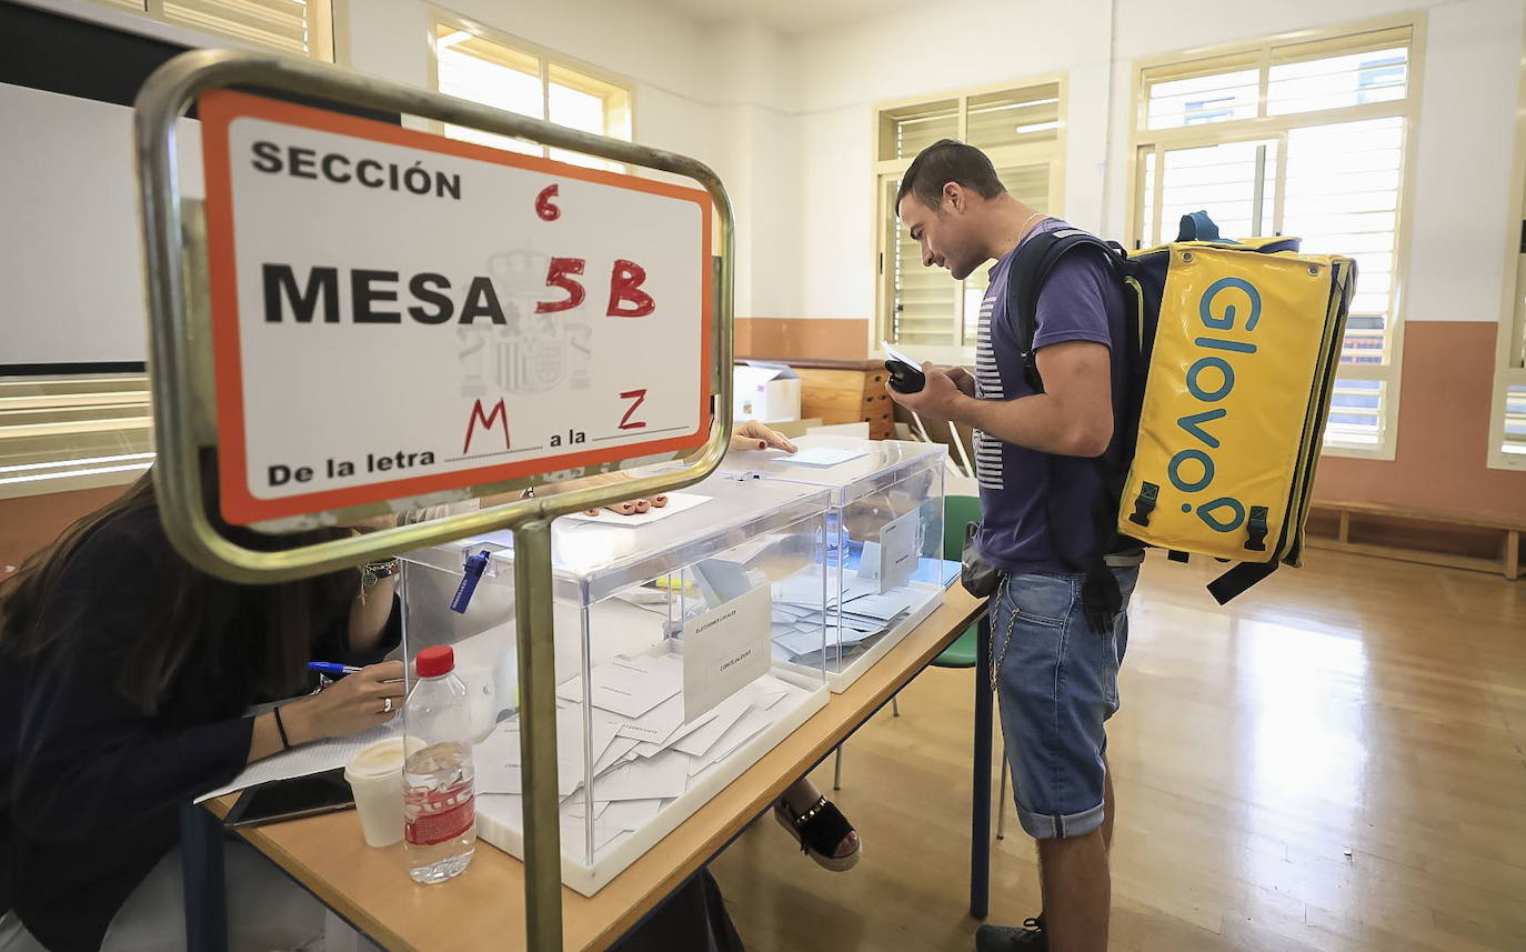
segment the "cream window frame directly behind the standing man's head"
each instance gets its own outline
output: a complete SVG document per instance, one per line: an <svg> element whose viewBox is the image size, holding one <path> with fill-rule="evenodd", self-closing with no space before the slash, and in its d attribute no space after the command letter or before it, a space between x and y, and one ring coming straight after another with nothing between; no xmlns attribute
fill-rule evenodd
<svg viewBox="0 0 1526 952"><path fill-rule="evenodd" d="M894 233L891 227L899 229L896 223L896 209L888 207L885 192L890 182L899 178L905 174L906 168L911 165L911 159L884 159L881 156L881 124L885 113L905 110L908 107L917 105L932 105L937 102L954 101L957 105L957 130L955 139L960 142L966 140L967 134L967 114L969 101L989 96L993 93L1018 92L1030 87L1039 85L1056 85L1058 87L1058 122L1054 128L1054 139L1047 142L1024 142L1018 145L1004 145L992 150L981 150L990 156L992 165L998 169L1009 168L1015 165L1048 165L1048 194L1050 194L1050 209L1047 214L1061 217L1065 209L1065 159L1068 146L1068 107L1070 107L1070 73L1039 73L1036 76L1022 76L1018 79L1009 79L1004 82L990 82L986 85L977 85L969 88L946 90L938 93L923 93L917 96L906 96L902 99L890 99L885 102L876 102L870 110L870 136L871 136L871 169L870 183L873 188L873 204L871 215L874 223L874 243L870 252L870 275L874 279L874 311L868 320L868 355L870 359L884 359L885 352L881 346L881 340L890 339L888 314L885 308L888 307L887 296L887 275L885 261L893 253L888 238ZM989 265L987 265L989 267ZM952 281L952 278L949 278ZM964 326L964 282L955 282L960 290L955 291L955 313L954 313L954 328L955 336L963 333ZM932 360L935 363L946 365L969 365L975 362L975 346L971 345L945 345L945 346L929 346L929 345L906 345L916 352L914 357L923 360Z"/></svg>

